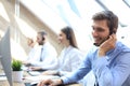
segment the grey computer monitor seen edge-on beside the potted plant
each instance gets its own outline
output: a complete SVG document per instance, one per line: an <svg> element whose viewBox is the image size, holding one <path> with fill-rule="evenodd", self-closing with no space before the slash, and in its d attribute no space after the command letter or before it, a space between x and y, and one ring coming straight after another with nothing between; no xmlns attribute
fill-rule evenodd
<svg viewBox="0 0 130 86"><path fill-rule="evenodd" d="M13 86L11 68L10 27L8 27L3 38L0 41L0 61L10 86Z"/></svg>

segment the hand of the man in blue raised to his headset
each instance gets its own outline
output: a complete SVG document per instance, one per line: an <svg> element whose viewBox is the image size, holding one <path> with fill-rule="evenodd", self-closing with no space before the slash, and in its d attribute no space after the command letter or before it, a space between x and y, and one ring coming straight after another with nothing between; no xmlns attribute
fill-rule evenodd
<svg viewBox="0 0 130 86"><path fill-rule="evenodd" d="M105 54L115 48L115 45L116 45L116 34L112 34L109 35L109 39L106 40L103 44L100 45L100 48L99 48L99 57L101 56L105 56Z"/></svg>

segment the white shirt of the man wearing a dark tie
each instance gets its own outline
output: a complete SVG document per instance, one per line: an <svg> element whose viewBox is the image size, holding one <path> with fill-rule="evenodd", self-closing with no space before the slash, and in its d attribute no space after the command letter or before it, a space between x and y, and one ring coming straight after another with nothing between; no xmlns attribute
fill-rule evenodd
<svg viewBox="0 0 130 86"><path fill-rule="evenodd" d="M41 53L42 48L42 53ZM55 48L49 43L44 43L37 49L34 60L30 61L32 66L42 67L42 69L55 69L57 67L57 53ZM42 61L41 61L41 60Z"/></svg>

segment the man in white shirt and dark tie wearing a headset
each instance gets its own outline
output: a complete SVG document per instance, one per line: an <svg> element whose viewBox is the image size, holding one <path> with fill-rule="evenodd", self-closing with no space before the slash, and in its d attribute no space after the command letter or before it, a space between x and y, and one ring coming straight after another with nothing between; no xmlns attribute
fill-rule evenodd
<svg viewBox="0 0 130 86"><path fill-rule="evenodd" d="M40 45L39 49L37 49L34 59L31 61L27 61L26 64L31 64L30 70L34 70L35 67L42 69L55 69L57 66L57 53L55 48L48 42L46 31L39 31L37 34L37 42ZM35 69L39 70L39 69Z"/></svg>

